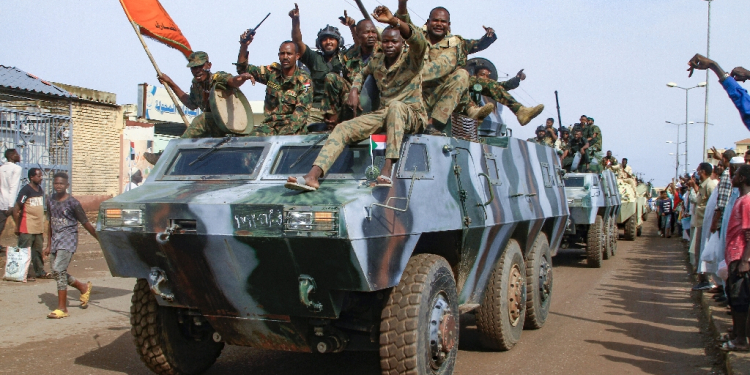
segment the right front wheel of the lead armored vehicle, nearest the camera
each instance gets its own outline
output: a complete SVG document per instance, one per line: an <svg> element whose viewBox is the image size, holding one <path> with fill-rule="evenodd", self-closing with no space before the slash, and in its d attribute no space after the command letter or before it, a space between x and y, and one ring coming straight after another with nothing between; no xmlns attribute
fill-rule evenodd
<svg viewBox="0 0 750 375"><path fill-rule="evenodd" d="M381 313L382 373L452 374L458 331L458 292L450 265L438 255L413 256Z"/></svg>

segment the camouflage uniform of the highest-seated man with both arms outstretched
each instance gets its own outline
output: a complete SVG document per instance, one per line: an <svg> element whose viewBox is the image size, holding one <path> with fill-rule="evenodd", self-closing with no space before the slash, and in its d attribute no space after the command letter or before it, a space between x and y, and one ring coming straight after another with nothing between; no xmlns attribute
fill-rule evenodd
<svg viewBox="0 0 750 375"><path fill-rule="evenodd" d="M408 13L396 17L411 24ZM427 31L419 30L426 38ZM468 54L479 52L494 42L483 43L485 39L491 38L465 40L458 35L446 35L437 44L428 40L429 50L422 69L422 97L431 118L445 124L454 111L466 113L468 106L475 105L468 93L469 73L459 68L466 65Z"/></svg>

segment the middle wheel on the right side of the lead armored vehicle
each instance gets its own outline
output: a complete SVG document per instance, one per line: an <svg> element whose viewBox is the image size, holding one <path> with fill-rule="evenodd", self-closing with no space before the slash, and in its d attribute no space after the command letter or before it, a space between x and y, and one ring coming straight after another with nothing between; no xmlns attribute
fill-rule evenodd
<svg viewBox="0 0 750 375"><path fill-rule="evenodd" d="M510 240L476 310L479 342L487 349L510 350L521 340L526 315L526 267L521 247Z"/></svg>

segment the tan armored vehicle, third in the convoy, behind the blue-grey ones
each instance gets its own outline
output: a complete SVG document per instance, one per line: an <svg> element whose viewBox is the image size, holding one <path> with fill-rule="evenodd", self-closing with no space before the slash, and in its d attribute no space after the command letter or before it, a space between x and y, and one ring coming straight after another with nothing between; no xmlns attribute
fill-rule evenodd
<svg viewBox="0 0 750 375"><path fill-rule="evenodd" d="M624 239L634 241L641 235L643 218L646 216L648 206L649 186L644 183L636 183L633 178L618 179L617 185L620 190L622 205L617 217L618 228L625 230Z"/></svg>

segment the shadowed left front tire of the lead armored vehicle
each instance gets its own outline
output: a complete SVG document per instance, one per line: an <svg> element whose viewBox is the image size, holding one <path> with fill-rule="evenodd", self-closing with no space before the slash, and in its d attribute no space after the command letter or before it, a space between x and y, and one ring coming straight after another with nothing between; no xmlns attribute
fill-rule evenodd
<svg viewBox="0 0 750 375"><path fill-rule="evenodd" d="M216 362L224 343L214 342L211 335L199 341L185 337L177 309L159 306L146 280L136 282L130 301L130 333L141 360L151 371L160 375L193 375L205 372Z"/></svg>

